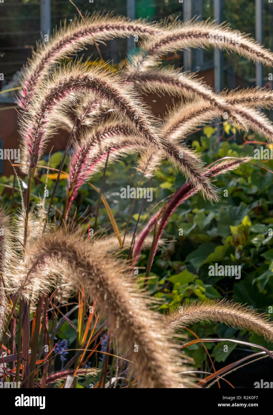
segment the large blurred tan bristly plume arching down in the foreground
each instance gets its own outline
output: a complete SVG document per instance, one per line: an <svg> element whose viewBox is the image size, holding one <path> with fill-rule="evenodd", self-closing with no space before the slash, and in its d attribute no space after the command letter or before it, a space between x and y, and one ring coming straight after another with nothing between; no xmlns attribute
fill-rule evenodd
<svg viewBox="0 0 273 415"><path fill-rule="evenodd" d="M187 361L186 356L177 354L168 334L160 332L160 315L149 310L149 297L129 281L126 265L116 257L100 252L79 233L59 230L29 246L20 271L23 295L32 292L32 280L37 276L44 293L59 275L63 283L77 289L84 286L90 301L97 298L101 315L107 317L117 336L119 350L129 352L139 387L193 386L188 377L178 375L187 366L177 366L176 362Z"/></svg>

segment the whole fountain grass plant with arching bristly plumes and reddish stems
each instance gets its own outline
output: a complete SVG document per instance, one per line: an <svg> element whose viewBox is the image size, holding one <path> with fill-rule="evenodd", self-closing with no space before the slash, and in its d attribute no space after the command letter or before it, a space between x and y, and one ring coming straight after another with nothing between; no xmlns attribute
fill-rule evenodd
<svg viewBox="0 0 273 415"><path fill-rule="evenodd" d="M0 211L0 227L4 229L0 236L0 305L4 311L0 313L0 342L4 350L7 350L5 344L8 342L11 353L16 355L6 369L6 376L22 381L24 387L44 388L68 375L75 378L98 375L98 369L85 369L83 366L88 360L87 350L91 342L98 337L98 334L93 334L94 329L89 340L88 329L83 333L84 309L89 305L95 311L88 317L88 327L94 312L100 315L105 322L97 333L108 327L108 350L113 342L122 354L117 356L117 364L112 369L115 368L116 385L119 364L125 359L129 369L128 385L145 388L197 386L195 378L187 370L193 362L183 352L178 352L176 334L177 329L195 322L224 322L273 340L273 323L257 312L249 311L246 306L211 300L191 303L184 307L183 313L178 310L161 318L157 311L152 310L151 297L146 292L154 254L162 244L163 229L176 207L197 191L201 191L204 198L217 202L219 195L212 184L213 177L228 173L251 159L227 157L206 167L200 156L183 144L183 137L196 127L227 113L237 128L251 129L269 141L273 138L272 123L258 111L261 107L273 107L271 91L251 88L216 94L196 75L161 66L164 54L186 47L210 46L272 66L271 51L250 37L242 34L241 44L235 47L228 42L211 42L209 34L212 32L222 33L224 39L225 34L232 34L229 26L217 26L208 21L151 24L111 14L95 14L85 16L84 20L75 19L56 31L51 41L38 45L32 59L22 69L17 103L21 107L21 169L27 173L28 183L25 203L22 202L22 211L16 220L16 232L10 231L14 218L4 209ZM118 73L106 69L104 62L90 66L80 60L64 66L56 65L85 44L98 46L102 41L132 34L142 37L139 51ZM145 105L139 91L168 93L183 100L158 120ZM75 120L68 114L71 110L76 113ZM46 205L44 198L31 210L32 178L40 166L48 139L60 126L68 129L70 138L50 203ZM61 224L58 225L49 215L70 148L67 192ZM80 231L76 219L68 219L70 207L79 188L94 173L132 152L140 154L137 170L142 177L151 178L160 162L167 159L180 169L187 181L143 229L136 227L134 234L130 234L126 227L120 234L112 219L115 234L96 237L91 242ZM149 236L153 231L154 236ZM140 289L133 270L144 247L150 248L150 256L144 286ZM129 249L127 261L122 259L126 249ZM77 345L80 351L70 365L54 372L47 360L54 346L54 332L50 336L48 331L47 307L49 304L53 306L53 296L61 306L73 292L79 295ZM33 311L29 349L29 312ZM19 326L15 344L17 316ZM41 341L49 343L49 354L44 352L41 369L37 366L41 357L39 334L40 344ZM76 366L72 370L74 362ZM103 386L106 376L107 364L101 378Z"/></svg>

